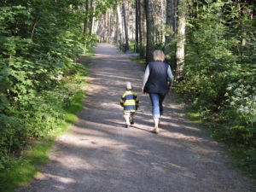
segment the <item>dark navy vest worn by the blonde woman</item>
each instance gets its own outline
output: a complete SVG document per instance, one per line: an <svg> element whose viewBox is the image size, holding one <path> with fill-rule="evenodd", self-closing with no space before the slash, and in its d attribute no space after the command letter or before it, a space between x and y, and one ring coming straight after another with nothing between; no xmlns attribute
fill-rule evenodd
<svg viewBox="0 0 256 192"><path fill-rule="evenodd" d="M148 67L149 76L144 91L166 94L168 92L167 70L169 65L166 62L152 61L148 63Z"/></svg>

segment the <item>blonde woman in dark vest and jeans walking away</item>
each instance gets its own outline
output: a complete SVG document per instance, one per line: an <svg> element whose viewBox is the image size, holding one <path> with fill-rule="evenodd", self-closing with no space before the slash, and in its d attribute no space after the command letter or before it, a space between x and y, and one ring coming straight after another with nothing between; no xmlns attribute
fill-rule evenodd
<svg viewBox="0 0 256 192"><path fill-rule="evenodd" d="M158 133L160 116L164 113L163 101L168 92L168 81L173 82L171 67L164 62L165 54L154 50L154 61L149 62L143 75L143 93L148 93L152 103L154 133Z"/></svg>

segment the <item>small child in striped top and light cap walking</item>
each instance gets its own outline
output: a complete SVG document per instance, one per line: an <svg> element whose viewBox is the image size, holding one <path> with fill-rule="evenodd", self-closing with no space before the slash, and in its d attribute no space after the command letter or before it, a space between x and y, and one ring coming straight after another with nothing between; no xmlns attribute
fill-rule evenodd
<svg viewBox="0 0 256 192"><path fill-rule="evenodd" d="M139 100L136 93L131 91L131 82L126 82L125 89L125 94L120 99L120 105L124 108L125 127L128 128L134 124L133 115L139 107Z"/></svg>

